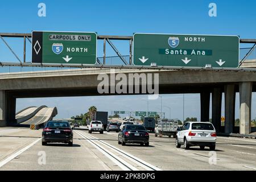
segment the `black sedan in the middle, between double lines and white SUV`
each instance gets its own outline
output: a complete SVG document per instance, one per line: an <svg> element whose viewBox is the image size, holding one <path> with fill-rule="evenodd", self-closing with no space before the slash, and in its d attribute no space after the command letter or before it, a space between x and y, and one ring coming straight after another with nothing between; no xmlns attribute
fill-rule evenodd
<svg viewBox="0 0 256 182"><path fill-rule="evenodd" d="M149 145L149 134L143 125L125 125L118 134L118 144L139 143Z"/></svg>

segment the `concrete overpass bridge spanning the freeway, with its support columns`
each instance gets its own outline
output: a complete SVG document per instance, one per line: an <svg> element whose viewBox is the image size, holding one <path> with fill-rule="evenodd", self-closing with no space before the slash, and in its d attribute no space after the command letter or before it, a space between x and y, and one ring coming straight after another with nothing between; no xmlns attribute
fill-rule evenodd
<svg viewBox="0 0 256 182"><path fill-rule="evenodd" d="M212 122L218 132L221 130L222 93L225 93L225 133L232 133L234 130L234 98L236 92L239 92L240 133L251 132L251 93L256 91L256 69L246 68L164 67L161 69L121 65L64 71L1 73L0 125L6 126L15 122L16 98L117 95L116 92L100 94L97 90L101 82L97 79L98 75L105 73L110 79L110 68L115 68L115 74L123 73L127 77L129 73L158 73L159 94L200 93L201 121L209 121L210 93L212 93ZM129 85L128 83L127 86ZM133 82L133 86L135 85L142 87L144 83Z"/></svg>

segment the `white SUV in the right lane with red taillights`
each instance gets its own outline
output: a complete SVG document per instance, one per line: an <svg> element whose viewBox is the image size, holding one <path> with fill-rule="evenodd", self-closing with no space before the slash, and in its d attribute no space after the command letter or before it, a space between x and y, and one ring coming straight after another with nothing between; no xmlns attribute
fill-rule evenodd
<svg viewBox="0 0 256 182"><path fill-rule="evenodd" d="M204 147L210 147L210 150L215 150L216 146L216 130L210 122L186 122L177 129L176 147L180 148L184 144L185 150L190 146L200 146L201 150Z"/></svg>

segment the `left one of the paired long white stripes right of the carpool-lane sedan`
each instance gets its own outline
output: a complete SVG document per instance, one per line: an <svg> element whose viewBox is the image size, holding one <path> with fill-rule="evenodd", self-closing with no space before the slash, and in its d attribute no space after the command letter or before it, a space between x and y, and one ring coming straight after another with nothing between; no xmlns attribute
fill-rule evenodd
<svg viewBox="0 0 256 182"><path fill-rule="evenodd" d="M90 138L86 137L85 135L83 135L82 133L80 133L79 131L76 131L77 134L79 134L82 138L84 139L88 139L87 141L92 144L92 146L94 146L95 148L97 148L102 154L104 154L105 156L107 156L110 160L112 160L112 162L114 162L115 164L117 164L119 167L121 167L123 170L125 171L131 171L131 169L133 171L139 171L137 168L135 168L134 166L132 166L131 164L125 162L125 160L119 158L117 155L114 155L112 152L110 152L109 150L107 150L106 148L102 147L100 144L97 144L95 142L92 142L90 140ZM100 146L100 147L99 147ZM125 165L124 165L125 164ZM126 167L127 166L127 167Z"/></svg>

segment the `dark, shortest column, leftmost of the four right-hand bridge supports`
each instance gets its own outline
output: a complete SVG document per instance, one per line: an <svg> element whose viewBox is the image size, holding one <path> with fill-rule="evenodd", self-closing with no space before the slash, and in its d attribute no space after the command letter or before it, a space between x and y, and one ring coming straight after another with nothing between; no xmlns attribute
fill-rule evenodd
<svg viewBox="0 0 256 182"><path fill-rule="evenodd" d="M209 121L210 92L208 91L201 92L200 102L201 102L201 122Z"/></svg>

